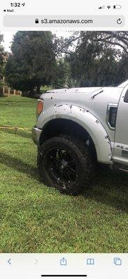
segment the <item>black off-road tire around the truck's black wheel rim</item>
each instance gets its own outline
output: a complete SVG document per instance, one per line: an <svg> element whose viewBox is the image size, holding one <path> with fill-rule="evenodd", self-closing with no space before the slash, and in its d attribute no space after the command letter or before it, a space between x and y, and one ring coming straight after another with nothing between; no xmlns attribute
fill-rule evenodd
<svg viewBox="0 0 128 279"><path fill-rule="evenodd" d="M65 149L69 156L72 156L77 166L76 179L72 182L51 179L49 167L46 167L47 154L51 149ZM51 152L51 151L50 151ZM38 172L41 181L47 185L58 189L61 193L68 195L79 195L83 189L88 187L95 177L96 159L90 152L89 146L82 140L70 135L59 135L46 140L38 152ZM68 169L68 168L67 168Z"/></svg>

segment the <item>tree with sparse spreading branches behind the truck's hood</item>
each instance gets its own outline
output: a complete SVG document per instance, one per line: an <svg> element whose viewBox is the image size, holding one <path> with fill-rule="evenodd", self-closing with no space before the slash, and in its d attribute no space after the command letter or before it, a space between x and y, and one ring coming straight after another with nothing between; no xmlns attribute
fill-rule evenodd
<svg viewBox="0 0 128 279"><path fill-rule="evenodd" d="M75 86L110 86L128 78L128 55L124 50L127 39L122 42L122 33L77 33L76 47L67 54Z"/></svg>

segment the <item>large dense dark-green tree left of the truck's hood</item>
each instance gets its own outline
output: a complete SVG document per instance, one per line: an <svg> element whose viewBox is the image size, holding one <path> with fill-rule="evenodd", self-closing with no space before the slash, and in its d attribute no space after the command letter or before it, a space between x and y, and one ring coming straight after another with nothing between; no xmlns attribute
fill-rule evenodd
<svg viewBox="0 0 128 279"><path fill-rule="evenodd" d="M54 36L49 31L18 31L5 68L6 82L13 89L40 91L55 78Z"/></svg>

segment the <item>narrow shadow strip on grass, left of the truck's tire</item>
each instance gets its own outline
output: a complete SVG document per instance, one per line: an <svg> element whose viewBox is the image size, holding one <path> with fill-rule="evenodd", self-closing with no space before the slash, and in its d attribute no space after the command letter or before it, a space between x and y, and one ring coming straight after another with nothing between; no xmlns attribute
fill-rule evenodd
<svg viewBox="0 0 128 279"><path fill-rule="evenodd" d="M25 173L34 179L38 179L37 168L23 162L19 158L14 158L10 155L0 152L0 163L17 170L18 172Z"/></svg>

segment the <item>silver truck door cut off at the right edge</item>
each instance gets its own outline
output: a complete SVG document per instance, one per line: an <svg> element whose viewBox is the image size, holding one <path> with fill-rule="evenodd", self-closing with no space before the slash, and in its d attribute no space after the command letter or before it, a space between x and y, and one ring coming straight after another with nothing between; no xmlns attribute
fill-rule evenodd
<svg viewBox="0 0 128 279"><path fill-rule="evenodd" d="M128 165L128 85L122 91L115 126L114 160Z"/></svg>

